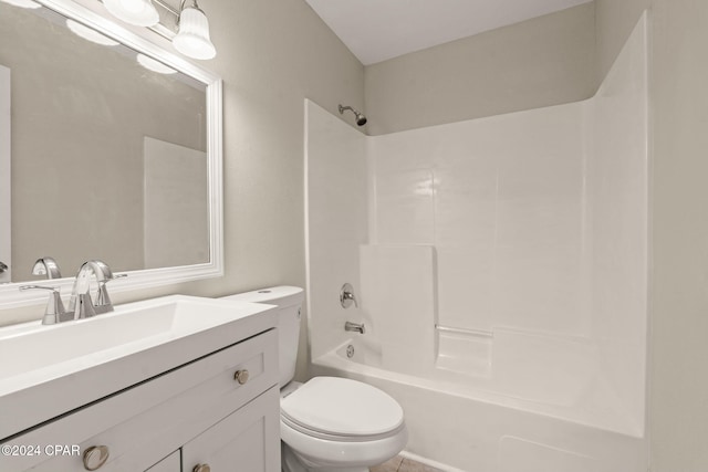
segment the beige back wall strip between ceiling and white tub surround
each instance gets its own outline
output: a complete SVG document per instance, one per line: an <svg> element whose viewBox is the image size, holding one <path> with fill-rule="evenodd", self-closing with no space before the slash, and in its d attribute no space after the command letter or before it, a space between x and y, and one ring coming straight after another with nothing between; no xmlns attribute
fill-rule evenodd
<svg viewBox="0 0 708 472"><path fill-rule="evenodd" d="M371 135L589 98L594 3L584 3L365 69Z"/></svg>

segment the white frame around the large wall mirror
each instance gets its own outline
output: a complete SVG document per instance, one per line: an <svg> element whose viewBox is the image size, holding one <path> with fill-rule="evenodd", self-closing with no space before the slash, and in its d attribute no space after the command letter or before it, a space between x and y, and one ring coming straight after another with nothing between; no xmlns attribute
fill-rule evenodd
<svg viewBox="0 0 708 472"><path fill-rule="evenodd" d="M177 53L168 51L157 42L153 42L144 38L142 34L129 31L107 17L104 17L73 0L37 1L45 8L54 10L66 18L84 23L87 27L113 38L114 40L119 41L125 46L152 56L206 85L207 174L209 183L209 262L194 265L121 272L128 274L128 276L116 279L111 282L111 292L119 293L135 291L223 275L223 120L221 77L192 64L179 56ZM101 3L98 3L98 6ZM145 29L145 31L149 32L147 29ZM149 33L153 34L153 32ZM44 255L52 254L38 254L38 258ZM77 271L79 268L63 268L63 270L67 273L73 273L73 271ZM58 280L35 280L2 284L0 285L0 310L35 305L46 302L48 294L45 291L20 291L20 285L39 284L52 286L61 290L62 295L66 295L71 293L73 283L73 277L64 277Z"/></svg>

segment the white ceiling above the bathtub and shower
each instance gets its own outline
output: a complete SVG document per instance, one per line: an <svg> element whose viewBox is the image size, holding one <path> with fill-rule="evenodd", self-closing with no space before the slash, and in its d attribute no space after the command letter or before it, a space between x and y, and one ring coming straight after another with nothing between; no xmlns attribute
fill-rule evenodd
<svg viewBox="0 0 708 472"><path fill-rule="evenodd" d="M305 0L364 64L591 0Z"/></svg>

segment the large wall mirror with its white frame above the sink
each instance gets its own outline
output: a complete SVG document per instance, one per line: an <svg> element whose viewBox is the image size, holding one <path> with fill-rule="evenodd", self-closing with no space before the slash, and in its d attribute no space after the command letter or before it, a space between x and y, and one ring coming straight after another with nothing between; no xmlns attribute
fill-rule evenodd
<svg viewBox="0 0 708 472"><path fill-rule="evenodd" d="M128 273L113 290L222 274L219 77L72 1L17 2L0 0L0 307L90 259ZM43 256L67 279L33 275Z"/></svg>

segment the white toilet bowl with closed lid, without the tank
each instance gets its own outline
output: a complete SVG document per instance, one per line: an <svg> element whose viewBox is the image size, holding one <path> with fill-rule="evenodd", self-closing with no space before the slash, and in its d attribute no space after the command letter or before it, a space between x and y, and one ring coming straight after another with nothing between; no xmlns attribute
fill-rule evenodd
<svg viewBox="0 0 708 472"><path fill-rule="evenodd" d="M400 406L351 379L314 377L281 399L283 471L364 472L405 447Z"/></svg>

